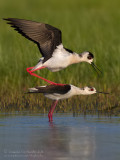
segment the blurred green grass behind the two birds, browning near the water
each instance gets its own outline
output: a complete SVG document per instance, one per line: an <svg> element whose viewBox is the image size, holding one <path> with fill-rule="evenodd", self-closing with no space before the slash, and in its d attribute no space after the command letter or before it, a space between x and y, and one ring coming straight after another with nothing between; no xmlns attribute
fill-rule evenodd
<svg viewBox="0 0 120 160"><path fill-rule="evenodd" d="M22 104L21 97L23 97L24 90L45 84L26 72L26 68L34 66L41 56L37 46L17 34L2 20L2 18L14 17L45 22L60 28L65 47L77 53L91 51L95 56L95 64L103 71L102 76L97 77L89 64L81 63L55 73L44 69L37 72L39 75L59 83L80 87L94 86L100 91L112 92L112 95L107 96L107 104L106 96L101 98L104 100L101 105L119 107L119 6L119 0L2 0L0 2L0 106L10 108L10 104L12 106L18 101ZM97 96L95 97L97 101ZM29 97L26 96L25 99L27 101ZM82 97L82 99L85 103L87 98ZM43 98L40 99L41 104L42 100ZM70 103L72 100L69 100ZM64 101L63 104L69 101ZM30 101L30 103L35 106L34 102ZM94 101L89 98L88 104L91 103L94 104ZM80 105L79 98L76 104Z"/></svg>

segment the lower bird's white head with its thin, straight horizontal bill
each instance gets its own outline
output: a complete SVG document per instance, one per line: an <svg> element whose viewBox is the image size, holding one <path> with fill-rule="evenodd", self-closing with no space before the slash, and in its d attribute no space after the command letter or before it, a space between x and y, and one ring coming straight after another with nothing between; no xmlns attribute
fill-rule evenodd
<svg viewBox="0 0 120 160"><path fill-rule="evenodd" d="M90 95L90 94L95 94L95 93L109 94L109 93L106 93L106 92L99 92L94 87L84 87L84 88L82 88L82 94L83 95Z"/></svg>

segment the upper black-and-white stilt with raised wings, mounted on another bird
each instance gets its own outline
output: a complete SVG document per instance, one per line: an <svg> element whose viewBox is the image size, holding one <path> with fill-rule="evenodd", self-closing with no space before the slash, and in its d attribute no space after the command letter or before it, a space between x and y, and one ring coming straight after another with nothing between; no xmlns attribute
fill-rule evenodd
<svg viewBox="0 0 120 160"><path fill-rule="evenodd" d="M83 52L81 54L77 54L64 48L62 44L61 31L59 29L49 24L38 23L30 20L16 18L7 18L4 20L7 20L8 24L15 28L18 33L36 43L43 56L35 67L27 68L27 72L31 75L41 78L50 84L56 84L36 75L33 72L46 67L52 72L57 72L71 64L80 62L88 62L96 71L100 71L93 63L94 56L92 53Z"/></svg>

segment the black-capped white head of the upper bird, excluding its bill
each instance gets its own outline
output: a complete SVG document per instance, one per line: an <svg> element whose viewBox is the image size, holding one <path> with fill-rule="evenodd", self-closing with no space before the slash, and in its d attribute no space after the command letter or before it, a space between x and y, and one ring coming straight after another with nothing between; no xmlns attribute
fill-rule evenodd
<svg viewBox="0 0 120 160"><path fill-rule="evenodd" d="M93 62L93 59L94 59L94 56L91 52L83 52L79 54L79 56L82 62L87 62L90 64Z"/></svg>

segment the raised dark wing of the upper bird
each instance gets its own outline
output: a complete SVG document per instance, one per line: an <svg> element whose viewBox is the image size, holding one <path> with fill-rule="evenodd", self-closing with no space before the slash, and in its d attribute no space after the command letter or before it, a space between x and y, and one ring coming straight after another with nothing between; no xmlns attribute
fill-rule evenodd
<svg viewBox="0 0 120 160"><path fill-rule="evenodd" d="M56 46L62 43L61 31L49 24L16 18L4 20L7 20L18 33L38 45L44 61L48 60Z"/></svg>

